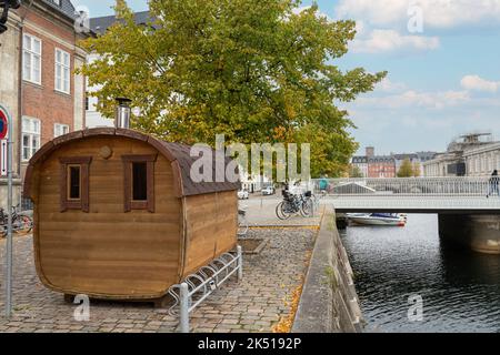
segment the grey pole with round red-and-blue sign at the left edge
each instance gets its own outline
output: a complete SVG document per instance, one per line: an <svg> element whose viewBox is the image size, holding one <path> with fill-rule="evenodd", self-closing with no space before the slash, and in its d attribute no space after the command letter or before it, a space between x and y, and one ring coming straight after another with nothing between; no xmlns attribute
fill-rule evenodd
<svg viewBox="0 0 500 355"><path fill-rule="evenodd" d="M7 135L6 316L12 315L12 119L0 104L0 140Z"/></svg>

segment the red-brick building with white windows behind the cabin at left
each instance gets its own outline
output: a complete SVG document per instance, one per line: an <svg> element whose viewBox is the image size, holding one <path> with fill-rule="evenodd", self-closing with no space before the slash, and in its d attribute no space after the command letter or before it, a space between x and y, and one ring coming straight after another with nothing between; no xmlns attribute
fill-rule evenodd
<svg viewBox="0 0 500 355"><path fill-rule="evenodd" d="M14 204L31 156L46 142L84 126L86 81L74 69L87 53L70 0L22 1L0 34L0 102L13 120ZM0 205L6 206L6 179Z"/></svg>

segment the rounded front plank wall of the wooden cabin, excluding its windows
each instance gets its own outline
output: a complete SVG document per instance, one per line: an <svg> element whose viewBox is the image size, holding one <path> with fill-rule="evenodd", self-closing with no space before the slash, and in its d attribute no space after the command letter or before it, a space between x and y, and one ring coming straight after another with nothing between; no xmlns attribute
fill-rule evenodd
<svg viewBox="0 0 500 355"><path fill-rule="evenodd" d="M109 160L99 151L109 146ZM154 166L156 213L123 213L124 154L157 154L127 138L88 138L63 146L38 172L34 231L37 268L50 287L112 298L162 296L180 277L181 201L170 163ZM61 156L92 156L90 210L60 213Z"/></svg>

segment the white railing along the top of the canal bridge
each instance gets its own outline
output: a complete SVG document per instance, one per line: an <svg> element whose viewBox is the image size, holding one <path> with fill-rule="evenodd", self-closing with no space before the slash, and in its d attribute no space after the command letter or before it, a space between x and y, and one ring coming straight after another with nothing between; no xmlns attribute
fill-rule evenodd
<svg viewBox="0 0 500 355"><path fill-rule="evenodd" d="M394 178L394 179L329 179L311 181L316 193L330 195L378 196L449 196L473 197L498 194L498 185L490 178Z"/></svg>

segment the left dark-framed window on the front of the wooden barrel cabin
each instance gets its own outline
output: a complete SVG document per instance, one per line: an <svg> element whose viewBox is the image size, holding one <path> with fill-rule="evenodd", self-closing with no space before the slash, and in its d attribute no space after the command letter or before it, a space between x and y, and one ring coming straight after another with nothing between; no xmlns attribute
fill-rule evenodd
<svg viewBox="0 0 500 355"><path fill-rule="evenodd" d="M60 158L61 212L81 210L89 212L89 166L91 156Z"/></svg>

